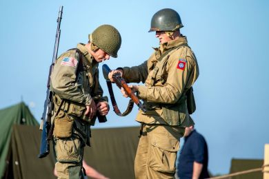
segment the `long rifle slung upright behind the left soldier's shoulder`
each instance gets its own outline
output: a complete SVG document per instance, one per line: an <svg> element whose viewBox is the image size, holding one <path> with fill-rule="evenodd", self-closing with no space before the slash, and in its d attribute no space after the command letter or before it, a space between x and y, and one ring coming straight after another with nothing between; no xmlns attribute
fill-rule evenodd
<svg viewBox="0 0 269 179"><path fill-rule="evenodd" d="M41 118L41 127L42 127L42 134L41 134L41 144L40 144L40 153L39 158L44 158L50 153L50 140L52 139L52 132L54 126L50 124L51 116L52 116L52 92L50 91L50 74L52 73L54 63L57 59L58 54L58 47L59 47L59 39L61 34L61 15L63 14L63 6L60 6L59 16L57 19L57 32L56 38L54 43L54 52L52 57L52 64L50 65L50 72L48 74L48 83L47 83L47 93L46 93L46 101L44 103L43 114Z"/></svg>

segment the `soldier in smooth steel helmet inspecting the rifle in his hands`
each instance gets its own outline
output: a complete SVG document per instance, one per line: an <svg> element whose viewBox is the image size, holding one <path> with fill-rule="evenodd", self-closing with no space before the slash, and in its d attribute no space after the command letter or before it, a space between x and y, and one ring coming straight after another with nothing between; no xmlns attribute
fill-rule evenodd
<svg viewBox="0 0 269 179"><path fill-rule="evenodd" d="M149 30L156 33L159 48L141 65L119 67L109 74L110 81L112 74L120 72L127 83L145 83L130 85L147 109L147 112L139 110L136 118L141 123L136 178L173 178L179 138L185 127L194 124L190 114L195 111L195 101L189 96L199 67L186 36L179 30L182 27L175 10L159 10L153 15Z"/></svg>

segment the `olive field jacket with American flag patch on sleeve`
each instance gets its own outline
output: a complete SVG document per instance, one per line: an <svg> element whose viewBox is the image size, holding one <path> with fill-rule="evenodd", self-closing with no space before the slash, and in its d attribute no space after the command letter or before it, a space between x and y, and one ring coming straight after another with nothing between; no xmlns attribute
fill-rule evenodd
<svg viewBox="0 0 269 179"><path fill-rule="evenodd" d="M61 109L74 118L81 118L94 125L95 119L90 120L84 115L86 105L90 105L92 100L97 100L98 103L108 101L108 98L103 96L103 89L99 84L98 63L88 54L86 47L79 43L77 49L61 54L50 78L51 91L57 96L58 101L59 98L64 101ZM55 112L60 102L54 105Z"/></svg>

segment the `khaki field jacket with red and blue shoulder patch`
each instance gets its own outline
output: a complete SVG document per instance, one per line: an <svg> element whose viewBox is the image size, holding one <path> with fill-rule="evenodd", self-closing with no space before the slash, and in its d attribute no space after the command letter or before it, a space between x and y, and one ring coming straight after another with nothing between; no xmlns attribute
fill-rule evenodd
<svg viewBox="0 0 269 179"><path fill-rule="evenodd" d="M186 92L198 76L197 59L185 36L161 44L141 65L123 67L127 83L145 83L139 85L137 96L144 101L147 112L139 110L136 120L181 127L193 125Z"/></svg>

